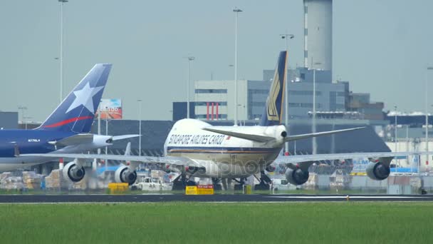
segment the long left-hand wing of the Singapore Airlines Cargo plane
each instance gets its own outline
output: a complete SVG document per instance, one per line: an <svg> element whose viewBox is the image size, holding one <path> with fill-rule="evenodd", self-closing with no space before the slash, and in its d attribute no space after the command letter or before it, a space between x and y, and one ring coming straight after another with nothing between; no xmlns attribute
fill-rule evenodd
<svg viewBox="0 0 433 244"><path fill-rule="evenodd" d="M174 166L199 166L189 158L184 157L152 157L152 156L128 156L128 155L113 155L113 154L81 154L81 153L28 153L21 154L24 156L40 156L47 158L80 158L80 159L103 159L103 160L116 160L116 161L135 161L140 163L164 163Z"/></svg>

